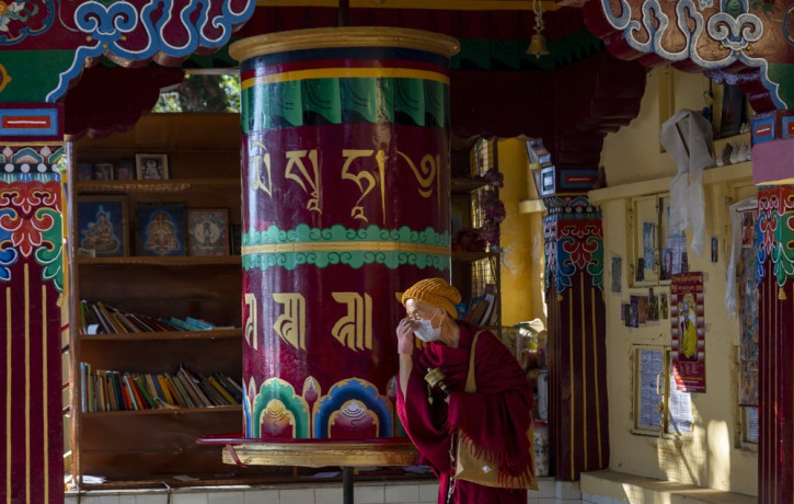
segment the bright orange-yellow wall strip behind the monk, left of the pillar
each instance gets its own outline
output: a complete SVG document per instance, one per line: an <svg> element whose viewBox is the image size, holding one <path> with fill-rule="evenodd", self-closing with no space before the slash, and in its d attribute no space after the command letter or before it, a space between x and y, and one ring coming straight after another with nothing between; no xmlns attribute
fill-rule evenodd
<svg viewBox="0 0 794 504"><path fill-rule="evenodd" d="M540 318L545 321L543 286L543 231L541 214L519 214L518 203L528 197L529 161L525 140L499 140L499 171L505 185L499 198L507 217L502 222L502 324L513 325ZM533 186L533 183L532 183Z"/></svg>

